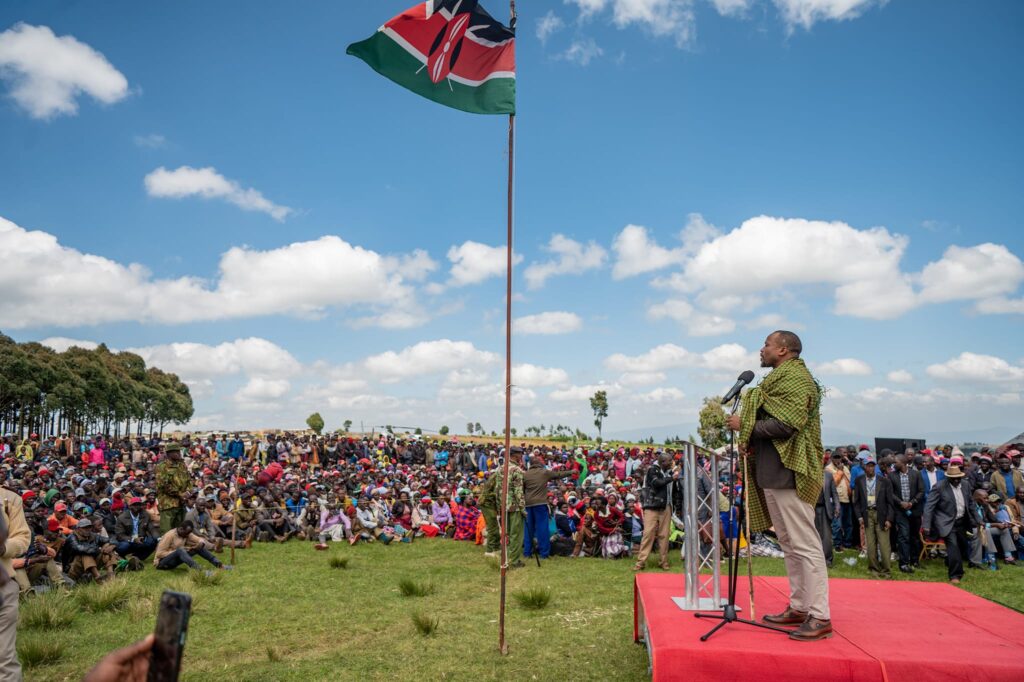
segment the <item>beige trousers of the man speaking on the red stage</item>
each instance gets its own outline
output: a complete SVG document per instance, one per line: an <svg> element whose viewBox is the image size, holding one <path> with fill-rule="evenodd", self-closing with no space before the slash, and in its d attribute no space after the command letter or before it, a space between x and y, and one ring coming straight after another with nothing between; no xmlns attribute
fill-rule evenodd
<svg viewBox="0 0 1024 682"><path fill-rule="evenodd" d="M814 507L797 497L795 489L766 488L765 502L785 554L790 605L828 621L828 568L814 527Z"/></svg>

